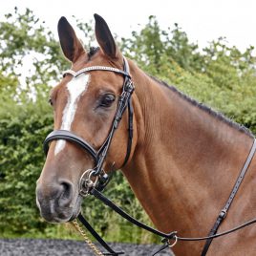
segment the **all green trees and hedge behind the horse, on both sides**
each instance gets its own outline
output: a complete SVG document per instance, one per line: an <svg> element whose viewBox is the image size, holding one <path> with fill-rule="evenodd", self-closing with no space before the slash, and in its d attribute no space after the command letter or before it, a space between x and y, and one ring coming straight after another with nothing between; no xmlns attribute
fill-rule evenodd
<svg viewBox="0 0 256 256"><path fill-rule="evenodd" d="M90 43L91 23L76 20ZM2 237L74 237L63 225L47 224L39 218L35 205L35 181L44 156L42 141L53 127L48 94L59 72L69 65L60 52L53 33L32 11L16 9L0 22L0 234ZM229 47L224 38L205 49L190 43L175 24L163 31L157 18L118 45L145 72L175 84L256 132L256 76L253 48L245 53ZM87 43L87 46L89 45ZM29 57L30 72L22 66ZM150 224L121 173L116 173L106 195ZM84 202L84 213L96 230L111 241L149 243L155 237L134 228L94 199Z"/></svg>

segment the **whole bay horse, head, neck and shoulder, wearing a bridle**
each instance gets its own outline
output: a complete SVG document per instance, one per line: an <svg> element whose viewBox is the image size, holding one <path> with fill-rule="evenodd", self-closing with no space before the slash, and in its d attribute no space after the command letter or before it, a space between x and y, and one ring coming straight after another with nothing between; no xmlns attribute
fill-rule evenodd
<svg viewBox="0 0 256 256"><path fill-rule="evenodd" d="M95 19L100 47L90 52L83 48L66 18L58 22L60 45L72 67L51 93L54 131L77 135L87 141L87 151L92 152L85 152L69 139L51 142L36 186L41 216L51 223L66 223L77 217L82 201L79 182L86 170L95 167L94 154L109 138L124 80L131 76L135 85L131 97L132 143L128 145L131 140L127 141L131 125L127 119L131 117L126 108L101 166L110 170L115 162L115 169L121 168L160 231L205 236L244 166L253 135L174 87L146 75L132 60L127 61L127 75L123 71L124 57L107 23L97 14ZM255 169L252 156L219 231L255 217ZM256 255L255 239L256 228L246 227L214 239L207 255ZM203 245L179 242L173 251L176 255L200 255Z"/></svg>

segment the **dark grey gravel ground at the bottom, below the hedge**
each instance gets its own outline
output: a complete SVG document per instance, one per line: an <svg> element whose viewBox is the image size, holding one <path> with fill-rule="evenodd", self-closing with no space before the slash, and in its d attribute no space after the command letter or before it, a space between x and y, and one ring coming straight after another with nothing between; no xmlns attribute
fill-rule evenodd
<svg viewBox="0 0 256 256"><path fill-rule="evenodd" d="M117 251L129 256L150 256L160 245L114 244ZM89 256L94 255L84 242L70 240L0 239L1 256ZM158 256L174 256L168 248Z"/></svg>

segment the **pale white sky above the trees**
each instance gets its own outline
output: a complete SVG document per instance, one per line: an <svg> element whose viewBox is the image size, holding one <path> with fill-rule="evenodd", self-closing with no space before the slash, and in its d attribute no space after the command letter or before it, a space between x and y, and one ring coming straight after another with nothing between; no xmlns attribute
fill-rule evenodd
<svg viewBox="0 0 256 256"><path fill-rule="evenodd" d="M178 23L201 48L220 36L242 51L256 47L256 0L8 0L1 4L0 20L14 7L31 9L56 36L61 16L74 24L73 15L88 22L98 13L113 33L129 37L147 23L149 15L156 15L161 29Z"/></svg>

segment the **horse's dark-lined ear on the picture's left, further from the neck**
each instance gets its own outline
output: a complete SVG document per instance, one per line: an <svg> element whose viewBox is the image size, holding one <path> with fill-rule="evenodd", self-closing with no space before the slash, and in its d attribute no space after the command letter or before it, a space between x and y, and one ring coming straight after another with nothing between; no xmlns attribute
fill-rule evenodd
<svg viewBox="0 0 256 256"><path fill-rule="evenodd" d="M76 37L75 31L65 17L61 17L57 25L58 37L64 55L72 62L85 50Z"/></svg>

